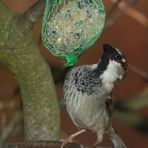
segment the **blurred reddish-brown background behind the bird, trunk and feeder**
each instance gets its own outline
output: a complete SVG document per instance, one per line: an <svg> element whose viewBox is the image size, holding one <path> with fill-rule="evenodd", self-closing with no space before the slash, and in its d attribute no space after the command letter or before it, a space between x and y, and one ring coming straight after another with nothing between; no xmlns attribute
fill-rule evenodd
<svg viewBox="0 0 148 148"><path fill-rule="evenodd" d="M109 14L106 27L96 44L79 58L77 65L96 63L102 53L103 43L110 43L123 50L129 69L125 79L113 92L113 123L128 147L139 148L148 146L148 5L147 0L139 0L131 9L125 11L123 8L128 8L125 4L129 1L121 0L114 8L114 0L104 0ZM5 0L12 10L20 14L35 2L37 0ZM62 85L66 72L61 59L54 57L43 47L41 25L42 18L34 26L34 40L52 70L61 105L61 137L64 138L77 131L62 102ZM18 83L8 68L0 64L0 140L23 141L23 132L22 101ZM95 135L88 132L76 140L91 145L95 141ZM104 140L103 143L108 141Z"/></svg>

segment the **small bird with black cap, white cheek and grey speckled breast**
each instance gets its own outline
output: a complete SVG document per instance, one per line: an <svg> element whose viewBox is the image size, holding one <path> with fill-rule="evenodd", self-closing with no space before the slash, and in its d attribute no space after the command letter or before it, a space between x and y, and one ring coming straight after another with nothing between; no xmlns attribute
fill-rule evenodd
<svg viewBox="0 0 148 148"><path fill-rule="evenodd" d="M80 130L64 139L61 148L86 132L97 134L94 147L107 135L114 148L126 148L126 144L111 122L111 92L118 80L127 72L127 60L120 49L103 44L103 54L96 64L72 68L66 75L63 93L67 112Z"/></svg>

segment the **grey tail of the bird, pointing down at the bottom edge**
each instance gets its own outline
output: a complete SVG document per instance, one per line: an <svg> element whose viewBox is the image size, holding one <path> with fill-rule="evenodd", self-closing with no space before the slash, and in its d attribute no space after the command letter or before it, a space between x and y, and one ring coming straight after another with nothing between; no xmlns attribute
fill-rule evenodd
<svg viewBox="0 0 148 148"><path fill-rule="evenodd" d="M127 148L126 144L123 142L121 137L118 135L116 130L111 126L108 130L109 139L113 143L114 148Z"/></svg>

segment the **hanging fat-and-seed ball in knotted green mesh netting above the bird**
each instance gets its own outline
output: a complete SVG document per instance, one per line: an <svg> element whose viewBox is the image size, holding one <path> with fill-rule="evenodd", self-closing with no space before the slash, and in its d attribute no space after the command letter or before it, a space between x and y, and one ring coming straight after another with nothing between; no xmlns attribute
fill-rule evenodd
<svg viewBox="0 0 148 148"><path fill-rule="evenodd" d="M100 36L105 22L102 0L46 0L42 39L55 56L72 66Z"/></svg>

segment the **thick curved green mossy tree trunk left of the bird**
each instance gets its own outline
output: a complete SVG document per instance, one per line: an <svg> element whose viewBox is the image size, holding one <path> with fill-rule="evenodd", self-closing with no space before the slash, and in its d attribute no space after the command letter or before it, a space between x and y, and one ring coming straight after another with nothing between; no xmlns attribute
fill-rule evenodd
<svg viewBox="0 0 148 148"><path fill-rule="evenodd" d="M33 25L0 0L0 60L14 73L24 108L25 139L59 138L60 117L50 68L33 40Z"/></svg>

